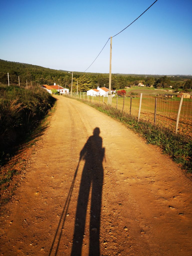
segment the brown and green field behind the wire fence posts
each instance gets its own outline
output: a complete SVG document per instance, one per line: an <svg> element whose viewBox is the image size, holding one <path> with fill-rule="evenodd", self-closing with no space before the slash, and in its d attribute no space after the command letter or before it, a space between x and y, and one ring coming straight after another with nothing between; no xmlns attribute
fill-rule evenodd
<svg viewBox="0 0 192 256"><path fill-rule="evenodd" d="M151 89L151 90L150 90ZM131 103L131 92L137 92L136 97L132 97L131 105L131 115L138 117L138 110L140 104L140 93L142 91L147 91L148 89L138 89L135 88L133 91L130 88L129 94L123 99L123 97L112 98L112 106L118 110L123 109L124 101L124 112L130 113L130 103ZM149 88L149 91L157 92L153 88ZM140 92L140 93L139 93ZM166 92L166 94L168 94ZM155 109L155 98L157 98L157 112L156 112L156 124L164 127L170 128L175 131L177 113L180 103L180 98L173 96L173 98L165 98L161 94L158 96L155 94L143 93L140 119L143 121L154 122L154 109ZM76 98L80 99L79 95ZM83 93L81 94L81 99L83 99ZM84 93L84 100L90 101L95 104L107 104L108 97L90 97L86 96ZM183 104L180 112L180 120L178 132L182 134L188 134L191 136L192 129L192 99L183 99Z"/></svg>

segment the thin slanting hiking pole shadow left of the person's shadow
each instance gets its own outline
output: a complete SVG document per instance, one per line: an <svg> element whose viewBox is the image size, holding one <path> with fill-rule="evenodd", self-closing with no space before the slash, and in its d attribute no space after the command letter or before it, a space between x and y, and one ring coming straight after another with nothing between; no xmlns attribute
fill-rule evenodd
<svg viewBox="0 0 192 256"><path fill-rule="evenodd" d="M73 176L73 180L72 180L72 183L71 183L71 187L69 189L69 193L68 193L68 196L67 196L67 199L66 199L66 202L65 202L65 206L63 207L63 211L62 211L62 214L61 214L61 217L60 217L60 220L59 220L59 224L58 224L58 227L57 227L57 230L56 230L56 233L55 233L55 237L53 239L51 249L49 251L49 256L52 254L54 244L56 243L56 237L58 236L59 230L60 230L60 234L59 234L59 238L58 238L58 242L57 242L57 248L56 248L56 251L55 251L55 254L54 254L55 256L57 255L60 239L61 239L61 236L62 236L62 228L64 227L64 224L65 224L66 215L67 215L67 211L68 211L70 200L71 200L71 195L72 195L72 192L73 192L73 187L74 187L75 179L76 179L76 176L77 176L77 171L78 171L78 168L79 168L79 163L80 163L80 159L79 159L76 171L75 171L74 176ZM64 217L64 219L62 221L63 217Z"/></svg>

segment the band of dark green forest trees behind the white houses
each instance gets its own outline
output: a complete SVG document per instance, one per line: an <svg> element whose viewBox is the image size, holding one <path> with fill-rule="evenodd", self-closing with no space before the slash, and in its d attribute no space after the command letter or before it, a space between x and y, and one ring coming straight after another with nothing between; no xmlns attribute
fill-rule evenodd
<svg viewBox="0 0 192 256"><path fill-rule="evenodd" d="M0 83L8 84L7 73L9 73L10 84L20 84L25 86L28 83L35 85L54 83L62 87L71 88L71 73L64 70L55 70L36 65L18 63L6 60L0 60ZM78 90L86 91L91 88L109 87L109 74L107 73L82 73L73 72L73 90L76 90L78 81ZM191 89L191 76L152 76L136 74L112 74L112 89L122 89L143 83L146 86L168 87Z"/></svg>

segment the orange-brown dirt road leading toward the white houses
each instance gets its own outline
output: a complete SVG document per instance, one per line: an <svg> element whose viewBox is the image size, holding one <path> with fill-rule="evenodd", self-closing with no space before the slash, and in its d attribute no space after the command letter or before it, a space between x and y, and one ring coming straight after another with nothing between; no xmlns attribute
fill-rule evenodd
<svg viewBox="0 0 192 256"><path fill-rule="evenodd" d="M192 255L191 182L99 111L62 96L1 218L1 255Z"/></svg>

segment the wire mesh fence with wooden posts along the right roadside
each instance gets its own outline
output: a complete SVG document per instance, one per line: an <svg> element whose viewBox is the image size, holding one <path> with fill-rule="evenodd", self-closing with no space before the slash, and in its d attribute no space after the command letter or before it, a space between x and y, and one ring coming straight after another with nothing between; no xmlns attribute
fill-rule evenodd
<svg viewBox="0 0 192 256"><path fill-rule="evenodd" d="M106 96L90 96L86 92L76 92L72 95L69 93L68 96L93 104L108 104ZM180 108L179 105L181 105ZM191 98L183 98L183 96L180 98L177 95L167 94L114 94L111 106L138 118L138 120L147 121L159 127L167 127L173 132L192 138Z"/></svg>

